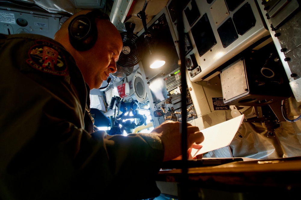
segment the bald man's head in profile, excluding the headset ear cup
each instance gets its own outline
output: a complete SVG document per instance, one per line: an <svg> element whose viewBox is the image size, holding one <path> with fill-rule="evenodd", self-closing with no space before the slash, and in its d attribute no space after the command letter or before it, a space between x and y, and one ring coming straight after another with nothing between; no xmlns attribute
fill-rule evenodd
<svg viewBox="0 0 301 200"><path fill-rule="evenodd" d="M90 10L75 13L57 31L54 40L60 42L74 57L82 72L85 82L91 89L100 88L107 80L109 73L116 72L116 61L123 47L119 31L107 19L95 19L97 26L97 40L95 45L85 51L79 51L69 41L68 26L76 16L87 14Z"/></svg>

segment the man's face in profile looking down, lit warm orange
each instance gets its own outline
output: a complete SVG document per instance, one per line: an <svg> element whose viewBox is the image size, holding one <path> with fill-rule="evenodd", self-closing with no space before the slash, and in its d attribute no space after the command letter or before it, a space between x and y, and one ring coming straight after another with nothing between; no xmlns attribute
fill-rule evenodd
<svg viewBox="0 0 301 200"><path fill-rule="evenodd" d="M90 89L100 88L110 73L116 72L116 61L123 47L119 31L107 20L96 20L98 38L95 45L75 58Z"/></svg>

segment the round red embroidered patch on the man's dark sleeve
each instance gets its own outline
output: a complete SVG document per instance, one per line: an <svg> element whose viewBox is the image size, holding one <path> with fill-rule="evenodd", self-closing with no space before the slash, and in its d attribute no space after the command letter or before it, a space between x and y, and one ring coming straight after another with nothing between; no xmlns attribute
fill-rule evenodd
<svg viewBox="0 0 301 200"><path fill-rule="evenodd" d="M67 64L61 50L53 43L36 40L29 49L29 59L26 60L33 68L59 76L67 76Z"/></svg>

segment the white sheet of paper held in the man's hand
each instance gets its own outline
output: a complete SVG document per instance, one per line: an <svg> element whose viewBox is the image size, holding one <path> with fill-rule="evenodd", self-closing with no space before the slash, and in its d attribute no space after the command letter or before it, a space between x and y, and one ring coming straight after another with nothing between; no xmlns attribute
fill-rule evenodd
<svg viewBox="0 0 301 200"><path fill-rule="evenodd" d="M237 130L239 129L243 120L244 115L240 115L236 118L201 130L204 135L204 141L200 145L203 145L203 147L201 149L192 148L191 155L188 159L191 159L196 155L229 145L233 140L235 134L237 133Z"/></svg>

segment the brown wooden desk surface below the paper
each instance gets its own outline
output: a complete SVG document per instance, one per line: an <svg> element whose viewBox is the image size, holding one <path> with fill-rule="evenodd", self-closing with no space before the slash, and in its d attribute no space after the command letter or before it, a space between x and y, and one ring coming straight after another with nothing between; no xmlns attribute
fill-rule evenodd
<svg viewBox="0 0 301 200"><path fill-rule="evenodd" d="M220 166L189 168L187 176L183 177L181 169L165 170L159 172L157 181L181 183L184 180L190 186L227 191L300 191L301 157L237 161Z"/></svg>

